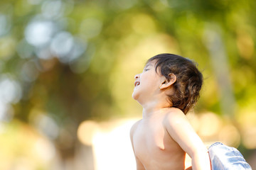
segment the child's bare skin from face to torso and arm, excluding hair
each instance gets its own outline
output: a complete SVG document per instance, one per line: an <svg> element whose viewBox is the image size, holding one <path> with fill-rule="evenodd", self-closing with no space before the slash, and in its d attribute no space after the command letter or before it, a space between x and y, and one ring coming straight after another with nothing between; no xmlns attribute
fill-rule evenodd
<svg viewBox="0 0 256 170"><path fill-rule="evenodd" d="M183 170L186 153L192 158L193 170L210 170L208 150L184 113L167 100L167 94L174 92L176 76L169 74L168 81L154 65L149 62L135 76L139 85L132 94L143 107L142 120L130 132L137 170Z"/></svg>

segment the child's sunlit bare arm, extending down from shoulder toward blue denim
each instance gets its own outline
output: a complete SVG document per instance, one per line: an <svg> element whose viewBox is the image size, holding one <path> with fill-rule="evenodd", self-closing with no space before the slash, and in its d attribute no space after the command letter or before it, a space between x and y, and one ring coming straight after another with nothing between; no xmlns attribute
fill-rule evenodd
<svg viewBox="0 0 256 170"><path fill-rule="evenodd" d="M208 150L183 112L169 113L164 121L171 137L191 157L193 170L210 170Z"/></svg>

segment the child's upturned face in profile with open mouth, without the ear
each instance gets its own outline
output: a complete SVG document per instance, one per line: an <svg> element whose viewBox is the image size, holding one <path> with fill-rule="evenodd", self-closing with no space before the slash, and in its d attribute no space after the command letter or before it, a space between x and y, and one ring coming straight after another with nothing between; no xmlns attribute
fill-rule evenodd
<svg viewBox="0 0 256 170"><path fill-rule="evenodd" d="M154 97L159 93L159 85L161 84L160 73L155 69L156 61L146 64L141 74L135 75L134 92L132 98L142 101L146 98Z"/></svg>

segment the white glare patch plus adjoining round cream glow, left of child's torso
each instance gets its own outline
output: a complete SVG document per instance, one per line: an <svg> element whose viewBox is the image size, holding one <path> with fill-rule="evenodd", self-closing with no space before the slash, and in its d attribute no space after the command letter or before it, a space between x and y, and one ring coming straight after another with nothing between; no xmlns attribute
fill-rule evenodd
<svg viewBox="0 0 256 170"><path fill-rule="evenodd" d="M129 130L136 121L127 119L96 124L87 120L80 124L78 139L85 145L92 145L95 170L136 169L129 139Z"/></svg>

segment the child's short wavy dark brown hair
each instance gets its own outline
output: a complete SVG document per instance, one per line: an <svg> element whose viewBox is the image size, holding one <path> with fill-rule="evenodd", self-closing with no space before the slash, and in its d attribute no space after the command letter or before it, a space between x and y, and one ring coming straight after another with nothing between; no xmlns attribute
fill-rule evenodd
<svg viewBox="0 0 256 170"><path fill-rule="evenodd" d="M156 61L156 72L159 67L161 74L170 79L169 74L176 76L174 94L169 95L172 107L179 108L184 114L193 108L200 96L199 91L203 84L203 75L192 60L179 55L168 53L151 57L148 62Z"/></svg>

